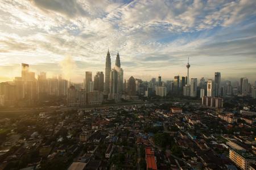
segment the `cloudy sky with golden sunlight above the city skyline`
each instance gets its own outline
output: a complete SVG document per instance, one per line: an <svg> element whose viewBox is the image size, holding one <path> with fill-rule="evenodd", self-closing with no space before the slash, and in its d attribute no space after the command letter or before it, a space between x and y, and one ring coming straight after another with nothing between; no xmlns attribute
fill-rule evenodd
<svg viewBox="0 0 256 170"><path fill-rule="evenodd" d="M3 0L0 82L21 63L51 78L82 82L119 51L124 77L256 80L255 0Z"/></svg>

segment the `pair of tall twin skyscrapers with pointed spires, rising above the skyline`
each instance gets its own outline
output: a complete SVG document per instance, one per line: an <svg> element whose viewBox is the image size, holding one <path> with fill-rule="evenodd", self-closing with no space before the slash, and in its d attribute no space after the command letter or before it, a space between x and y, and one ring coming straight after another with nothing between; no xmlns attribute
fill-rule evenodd
<svg viewBox="0 0 256 170"><path fill-rule="evenodd" d="M105 68L105 94L108 99L118 100L123 93L123 69L121 68L120 56L117 52L115 67L111 68L111 58L108 50Z"/></svg>

